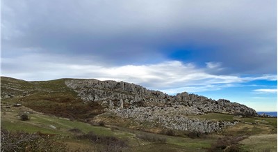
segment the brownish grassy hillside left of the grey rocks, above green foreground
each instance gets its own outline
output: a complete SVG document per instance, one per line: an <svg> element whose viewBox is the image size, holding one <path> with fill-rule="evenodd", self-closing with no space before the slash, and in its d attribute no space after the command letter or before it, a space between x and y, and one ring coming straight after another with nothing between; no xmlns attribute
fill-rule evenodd
<svg viewBox="0 0 278 152"><path fill-rule="evenodd" d="M6 93L8 98L3 98ZM44 114L53 114L69 119L85 120L101 114L103 107L85 103L72 89L65 85L65 79L45 82L26 82L1 77L2 105L20 103Z"/></svg>

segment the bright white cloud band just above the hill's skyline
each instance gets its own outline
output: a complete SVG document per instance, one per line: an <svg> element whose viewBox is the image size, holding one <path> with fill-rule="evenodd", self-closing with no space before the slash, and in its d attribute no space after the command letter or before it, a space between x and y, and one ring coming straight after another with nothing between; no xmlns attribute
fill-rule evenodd
<svg viewBox="0 0 278 152"><path fill-rule="evenodd" d="M93 58L93 57L92 57ZM83 59L83 60L82 60ZM31 62L30 62L31 61ZM26 80L47 80L63 77L95 78L140 84L148 89L166 93L216 91L235 87L257 79L275 81L275 75L242 77L240 75L213 75L208 69L194 63L164 61L145 65L103 66L95 60L84 60L79 56L48 56L31 54L2 59L2 75ZM20 67L18 66L20 65ZM221 66L218 68L222 68ZM258 89L257 91L268 91Z"/></svg>

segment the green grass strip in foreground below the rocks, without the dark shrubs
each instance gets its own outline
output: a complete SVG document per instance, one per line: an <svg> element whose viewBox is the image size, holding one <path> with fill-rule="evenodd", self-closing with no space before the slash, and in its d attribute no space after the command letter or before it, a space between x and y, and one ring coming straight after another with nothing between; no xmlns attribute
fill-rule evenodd
<svg viewBox="0 0 278 152"><path fill-rule="evenodd" d="M128 131L117 128L107 128L104 126L91 126L88 123L79 121L70 121L70 119L58 118L55 116L47 116L44 114L29 114L29 121L21 121L19 119L19 107L12 107L5 111L1 111L1 128L6 128L12 132L24 131L24 132L42 132L49 135L59 135L65 138L60 138L58 141L63 141L68 144L70 149L81 149L81 147L87 147L84 149L92 149L95 144L88 142L88 140L76 139L76 135L70 132L70 129L78 128L83 132L83 135L92 131L96 135L117 137L124 139L129 144L128 147L123 149L124 151L154 151L155 149L161 149L161 151L206 151L210 148L211 144L215 142L215 139L190 139L184 137L173 137L167 135L156 135L149 132L142 132L139 130ZM163 138L165 142L148 141L146 139L138 138L137 135L145 135L147 137Z"/></svg>

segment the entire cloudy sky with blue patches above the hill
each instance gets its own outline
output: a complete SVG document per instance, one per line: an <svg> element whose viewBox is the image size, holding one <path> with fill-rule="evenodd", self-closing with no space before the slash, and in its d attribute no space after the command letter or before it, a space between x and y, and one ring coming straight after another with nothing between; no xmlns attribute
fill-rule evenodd
<svg viewBox="0 0 278 152"><path fill-rule="evenodd" d="M113 79L277 111L277 1L3 0L1 75Z"/></svg>

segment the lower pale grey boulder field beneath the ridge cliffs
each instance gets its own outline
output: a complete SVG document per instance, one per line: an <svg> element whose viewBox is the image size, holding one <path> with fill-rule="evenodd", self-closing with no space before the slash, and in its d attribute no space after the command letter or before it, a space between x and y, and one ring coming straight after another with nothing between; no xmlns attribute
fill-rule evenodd
<svg viewBox="0 0 278 152"><path fill-rule="evenodd" d="M237 122L200 120L187 115L197 115L194 107L134 107L131 109L113 109L116 116L134 119L138 122L159 123L162 128L190 132L216 132Z"/></svg>

